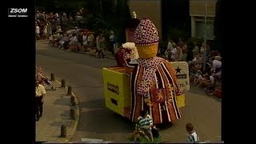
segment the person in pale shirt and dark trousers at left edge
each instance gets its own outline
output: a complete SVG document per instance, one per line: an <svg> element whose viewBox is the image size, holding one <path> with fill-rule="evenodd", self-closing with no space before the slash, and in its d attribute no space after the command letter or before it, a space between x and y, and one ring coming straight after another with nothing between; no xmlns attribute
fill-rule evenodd
<svg viewBox="0 0 256 144"><path fill-rule="evenodd" d="M39 84L39 81L36 81L36 84L35 84L36 121L39 121L39 118L42 117L43 102L44 102L45 94L46 94L45 87Z"/></svg>

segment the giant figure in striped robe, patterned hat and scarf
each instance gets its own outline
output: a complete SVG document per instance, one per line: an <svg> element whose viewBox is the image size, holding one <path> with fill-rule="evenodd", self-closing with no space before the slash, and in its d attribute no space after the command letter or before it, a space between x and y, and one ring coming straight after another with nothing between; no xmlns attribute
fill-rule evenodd
<svg viewBox="0 0 256 144"><path fill-rule="evenodd" d="M144 18L134 34L138 59L125 61L130 74L130 120L136 122L142 110L148 110L154 125L173 122L182 117L178 108L178 90L175 70L158 54L158 30L150 19ZM131 72L130 72L131 71Z"/></svg>

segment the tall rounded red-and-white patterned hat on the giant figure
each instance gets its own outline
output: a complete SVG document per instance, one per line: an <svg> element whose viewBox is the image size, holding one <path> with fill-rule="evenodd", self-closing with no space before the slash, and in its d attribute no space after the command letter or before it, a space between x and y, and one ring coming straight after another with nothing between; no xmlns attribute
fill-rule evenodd
<svg viewBox="0 0 256 144"><path fill-rule="evenodd" d="M138 24L134 34L134 43L136 46L156 45L159 42L157 27L150 21L144 18Z"/></svg>

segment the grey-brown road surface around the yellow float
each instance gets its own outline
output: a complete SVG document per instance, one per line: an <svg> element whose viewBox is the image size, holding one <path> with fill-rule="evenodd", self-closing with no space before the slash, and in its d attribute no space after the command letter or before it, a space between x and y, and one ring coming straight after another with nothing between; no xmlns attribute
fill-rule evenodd
<svg viewBox="0 0 256 144"><path fill-rule="evenodd" d="M104 102L102 68L114 66L114 60L51 48L46 42L38 42L36 49L37 65L42 66L47 75L54 73L58 80L65 78L78 97L81 117L72 141L80 141L81 138L127 141L134 127L126 119L106 109ZM221 140L221 102L217 98L191 86L182 114L183 117L173 126L166 126L160 131L163 141L184 142L186 122L194 124L201 140Z"/></svg>

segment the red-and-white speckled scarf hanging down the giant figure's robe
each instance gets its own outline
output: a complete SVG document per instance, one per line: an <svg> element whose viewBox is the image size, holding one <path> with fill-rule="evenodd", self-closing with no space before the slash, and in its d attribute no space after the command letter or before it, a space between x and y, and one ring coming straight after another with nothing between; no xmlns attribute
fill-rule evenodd
<svg viewBox="0 0 256 144"><path fill-rule="evenodd" d="M160 66L160 64L165 61L165 59L159 57L150 59L138 58L139 66L142 66L145 70L144 73L142 74L142 81L138 85L137 94L142 95L144 97L148 96L150 82L154 78L155 71L158 70L158 66Z"/></svg>

